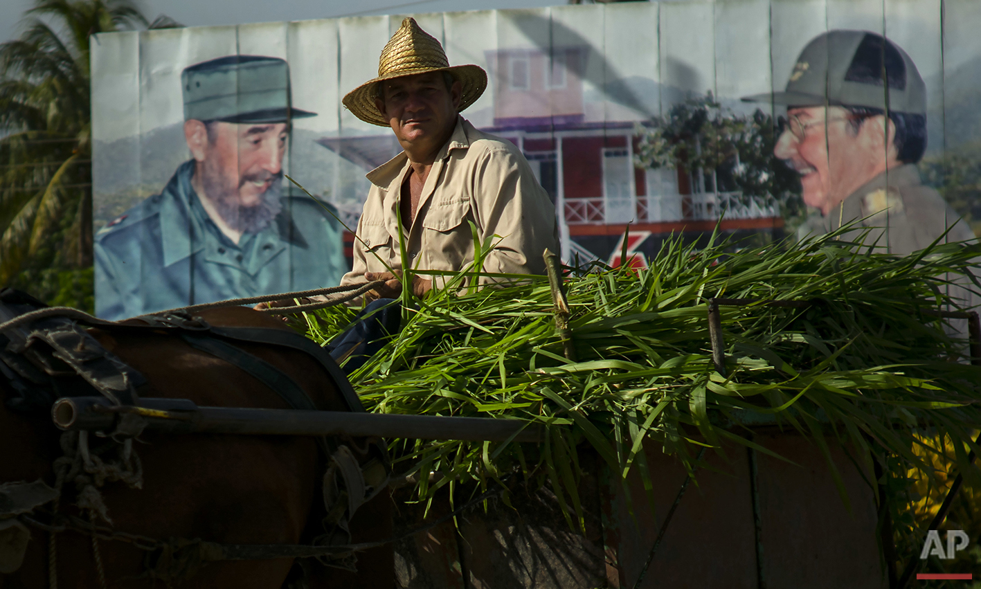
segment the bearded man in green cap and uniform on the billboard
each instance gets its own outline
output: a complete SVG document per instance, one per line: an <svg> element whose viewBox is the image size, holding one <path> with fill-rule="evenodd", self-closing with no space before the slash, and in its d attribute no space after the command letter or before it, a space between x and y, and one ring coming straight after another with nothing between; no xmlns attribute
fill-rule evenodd
<svg viewBox="0 0 981 589"><path fill-rule="evenodd" d="M229 56L181 74L191 159L164 190L95 239L96 314L164 309L336 284L340 230L306 195L283 194L292 119L281 59Z"/></svg>

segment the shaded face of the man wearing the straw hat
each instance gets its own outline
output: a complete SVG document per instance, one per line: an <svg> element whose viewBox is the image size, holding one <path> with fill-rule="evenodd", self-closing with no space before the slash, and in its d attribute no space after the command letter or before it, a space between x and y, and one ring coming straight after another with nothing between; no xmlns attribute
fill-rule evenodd
<svg viewBox="0 0 981 589"><path fill-rule="evenodd" d="M382 83L384 100L376 104L402 147L439 149L456 125L460 82L447 88L442 74L430 72Z"/></svg>

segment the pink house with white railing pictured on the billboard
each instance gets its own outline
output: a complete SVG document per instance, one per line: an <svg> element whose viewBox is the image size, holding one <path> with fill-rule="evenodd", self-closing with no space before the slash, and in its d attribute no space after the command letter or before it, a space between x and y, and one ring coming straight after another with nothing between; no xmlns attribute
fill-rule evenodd
<svg viewBox="0 0 981 589"><path fill-rule="evenodd" d="M488 52L493 80L493 126L528 158L557 203L573 250L602 260L619 252L627 224L648 235L633 248L653 255L659 237L710 233L722 218L726 232L781 233L779 209L762 199L706 190L701 173L637 168L635 121L590 122L583 80L585 47ZM549 59L550 58L550 59ZM587 252L581 252L587 255Z"/></svg>

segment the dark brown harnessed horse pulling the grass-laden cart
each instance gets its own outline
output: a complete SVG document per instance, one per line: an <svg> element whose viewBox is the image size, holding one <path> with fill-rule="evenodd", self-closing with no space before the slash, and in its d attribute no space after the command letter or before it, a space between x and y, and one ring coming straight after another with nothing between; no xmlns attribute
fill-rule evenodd
<svg viewBox="0 0 981 589"><path fill-rule="evenodd" d="M242 307L196 315L214 326L289 330L281 320ZM134 320L138 322L127 322ZM90 327L87 332L142 373L146 384L138 389L141 398L289 409L280 395L254 376L192 347L173 332L111 326ZM312 357L275 345L236 345L291 376L317 409L349 410L334 379ZM54 485L52 464L63 455L61 433L48 416L9 410L5 402L12 394L10 383L0 374L0 485L37 479ZM126 537L298 545L309 544L323 531L321 478L327 459L313 438L144 432L131 445L142 466L142 488L113 482L101 489L111 528ZM59 509L84 515L67 500ZM387 492L362 506L350 520L351 542L389 538L390 510ZM8 574L0 573L0 589L149 589L172 582L189 589L386 588L395 579L390 544L358 553L357 572L312 559L279 558L209 562L185 570L181 578L164 581L148 574L149 553L136 544L100 539L77 529L54 533L31 527L23 564Z"/></svg>

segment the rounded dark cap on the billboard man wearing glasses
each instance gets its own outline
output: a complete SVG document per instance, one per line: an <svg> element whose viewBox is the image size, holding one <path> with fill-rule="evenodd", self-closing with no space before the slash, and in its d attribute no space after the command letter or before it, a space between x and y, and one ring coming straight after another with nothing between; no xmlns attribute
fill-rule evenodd
<svg viewBox="0 0 981 589"><path fill-rule="evenodd" d="M888 88L888 92L886 91ZM850 106L926 115L926 84L906 52L867 30L829 30L800 52L784 92L745 102Z"/></svg>

